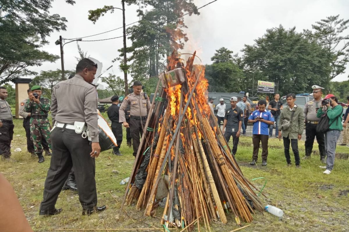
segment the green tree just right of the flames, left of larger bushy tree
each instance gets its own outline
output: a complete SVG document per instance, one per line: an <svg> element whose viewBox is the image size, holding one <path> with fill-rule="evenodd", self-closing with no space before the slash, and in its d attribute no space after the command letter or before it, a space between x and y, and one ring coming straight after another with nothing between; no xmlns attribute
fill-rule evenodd
<svg viewBox="0 0 349 232"><path fill-rule="evenodd" d="M206 65L205 75L210 92L239 92L246 90L244 73L236 63L236 55L227 48L220 48L211 57L213 64Z"/></svg>

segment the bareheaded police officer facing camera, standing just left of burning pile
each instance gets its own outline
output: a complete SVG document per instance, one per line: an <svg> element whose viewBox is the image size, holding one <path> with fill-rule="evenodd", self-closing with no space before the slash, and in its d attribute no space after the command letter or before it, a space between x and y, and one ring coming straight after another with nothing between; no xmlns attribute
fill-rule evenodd
<svg viewBox="0 0 349 232"><path fill-rule="evenodd" d="M125 97L119 109L119 122L122 122L126 128L130 128L133 146L133 156L136 156L140 144L140 135L146 125L147 115L150 110L149 98L142 92L142 83L135 81L133 83L133 93ZM130 106L130 123L126 122L125 110Z"/></svg>

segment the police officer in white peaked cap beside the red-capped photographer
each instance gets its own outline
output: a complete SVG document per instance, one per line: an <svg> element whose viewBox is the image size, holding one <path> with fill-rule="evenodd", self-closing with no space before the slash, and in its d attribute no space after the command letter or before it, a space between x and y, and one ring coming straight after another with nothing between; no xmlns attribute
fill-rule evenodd
<svg viewBox="0 0 349 232"><path fill-rule="evenodd" d="M308 101L303 109L304 119L305 119L305 157L303 159L309 159L311 152L313 150L314 138L319 144L320 160L326 163L326 150L325 150L325 135L324 133L319 133L316 131L316 127L319 123L319 118L316 114L321 106L322 101L322 87L313 85L314 99Z"/></svg>

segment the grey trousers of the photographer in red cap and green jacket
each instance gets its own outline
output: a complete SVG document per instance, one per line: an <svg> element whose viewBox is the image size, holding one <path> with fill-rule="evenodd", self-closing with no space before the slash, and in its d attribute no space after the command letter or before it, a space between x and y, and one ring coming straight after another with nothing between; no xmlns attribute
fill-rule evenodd
<svg viewBox="0 0 349 232"><path fill-rule="evenodd" d="M325 133L325 150L327 152L326 169L330 171L333 169L336 145L340 134L341 131L339 130L329 130Z"/></svg>

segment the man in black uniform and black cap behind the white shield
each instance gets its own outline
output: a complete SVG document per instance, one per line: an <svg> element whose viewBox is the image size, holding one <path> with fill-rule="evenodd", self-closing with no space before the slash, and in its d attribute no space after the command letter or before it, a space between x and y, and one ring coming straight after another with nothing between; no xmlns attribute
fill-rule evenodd
<svg viewBox="0 0 349 232"><path fill-rule="evenodd" d="M114 155L122 155L119 151L122 143L122 123L119 122L119 96L111 97L112 105L109 106L107 114L111 121L111 130L116 138L117 147L113 147Z"/></svg>

